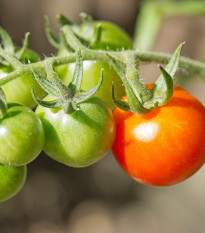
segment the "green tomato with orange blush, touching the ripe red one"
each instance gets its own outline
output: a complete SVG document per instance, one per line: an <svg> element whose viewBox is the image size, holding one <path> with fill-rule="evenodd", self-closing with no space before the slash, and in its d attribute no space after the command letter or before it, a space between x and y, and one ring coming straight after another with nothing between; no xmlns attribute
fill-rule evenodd
<svg viewBox="0 0 205 233"><path fill-rule="evenodd" d="M70 115L62 109L42 106L37 107L36 114L44 127L45 153L68 166L91 165L105 155L114 141L112 112L98 97L79 104L79 110Z"/></svg>

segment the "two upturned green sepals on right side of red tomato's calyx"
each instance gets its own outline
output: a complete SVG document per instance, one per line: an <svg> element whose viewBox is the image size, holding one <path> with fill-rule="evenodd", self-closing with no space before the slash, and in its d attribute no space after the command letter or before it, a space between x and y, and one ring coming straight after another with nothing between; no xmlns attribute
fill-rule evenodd
<svg viewBox="0 0 205 233"><path fill-rule="evenodd" d="M162 106L171 99L173 94L172 77L175 75L178 69L183 44L184 43L181 43L177 47L166 68L163 69L160 67L161 75L152 87L152 99L144 104L145 107L152 108L155 106Z"/></svg>

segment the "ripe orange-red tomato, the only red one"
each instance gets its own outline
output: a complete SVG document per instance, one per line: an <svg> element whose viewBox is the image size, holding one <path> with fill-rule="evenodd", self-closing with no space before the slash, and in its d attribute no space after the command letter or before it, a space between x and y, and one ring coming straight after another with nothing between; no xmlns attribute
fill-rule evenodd
<svg viewBox="0 0 205 233"><path fill-rule="evenodd" d="M153 186L177 184L205 162L205 109L184 89L146 115L115 108L112 147L120 166L136 181Z"/></svg>

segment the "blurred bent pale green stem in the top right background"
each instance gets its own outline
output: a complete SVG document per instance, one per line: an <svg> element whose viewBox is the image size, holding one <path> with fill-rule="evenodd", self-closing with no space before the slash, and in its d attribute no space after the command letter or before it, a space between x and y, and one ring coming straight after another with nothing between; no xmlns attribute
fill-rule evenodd
<svg viewBox="0 0 205 233"><path fill-rule="evenodd" d="M145 1L135 25L133 47L151 50L163 20L173 16L205 15L204 1Z"/></svg>

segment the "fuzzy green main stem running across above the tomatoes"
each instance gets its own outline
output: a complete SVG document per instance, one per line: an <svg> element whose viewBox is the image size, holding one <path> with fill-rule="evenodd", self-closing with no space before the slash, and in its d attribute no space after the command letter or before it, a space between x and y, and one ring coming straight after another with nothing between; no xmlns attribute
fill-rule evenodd
<svg viewBox="0 0 205 233"><path fill-rule="evenodd" d="M155 62L155 63L161 63L161 64L167 64L171 58L171 54L167 53L158 53L158 52L150 52L150 51L134 51L130 50L130 53L133 53L133 55L141 62ZM120 61L125 62L125 55L127 51L125 52L109 52L113 57L118 58ZM2 51L0 50L0 55L4 56L2 54ZM64 65L67 63L72 63L76 61L76 53L68 54L67 56L63 57L49 57L46 58L50 60L51 63L53 63L54 66ZM103 61L103 62L110 62L109 57L107 55L106 51L99 51L99 50L83 50L82 51L82 59L83 60L96 60L96 61ZM205 79L205 63L196 61L190 58L181 57L180 58L180 67L183 69L186 69L188 72L195 73L200 75L202 78ZM21 65L20 68L17 70L11 72L6 77L0 79L0 86L23 75L26 73L30 73L31 70L38 72L39 75L45 75L45 60L39 61L32 64L27 65Z"/></svg>

